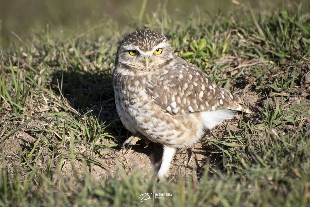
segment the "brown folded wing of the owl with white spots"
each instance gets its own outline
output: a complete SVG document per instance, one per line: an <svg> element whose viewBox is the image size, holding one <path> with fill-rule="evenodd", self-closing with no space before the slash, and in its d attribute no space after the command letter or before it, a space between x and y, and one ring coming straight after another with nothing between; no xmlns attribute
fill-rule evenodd
<svg viewBox="0 0 310 207"><path fill-rule="evenodd" d="M177 57L176 64L152 76L147 93L163 111L187 113L228 108L250 113L241 100L218 87L197 66Z"/></svg>

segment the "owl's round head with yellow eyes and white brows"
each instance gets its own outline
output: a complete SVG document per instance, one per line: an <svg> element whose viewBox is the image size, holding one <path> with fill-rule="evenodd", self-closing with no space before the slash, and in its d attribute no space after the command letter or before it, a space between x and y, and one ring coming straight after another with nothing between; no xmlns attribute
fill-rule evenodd
<svg viewBox="0 0 310 207"><path fill-rule="evenodd" d="M166 37L152 30L127 35L118 46L115 65L122 63L137 70L152 70L174 58Z"/></svg>

